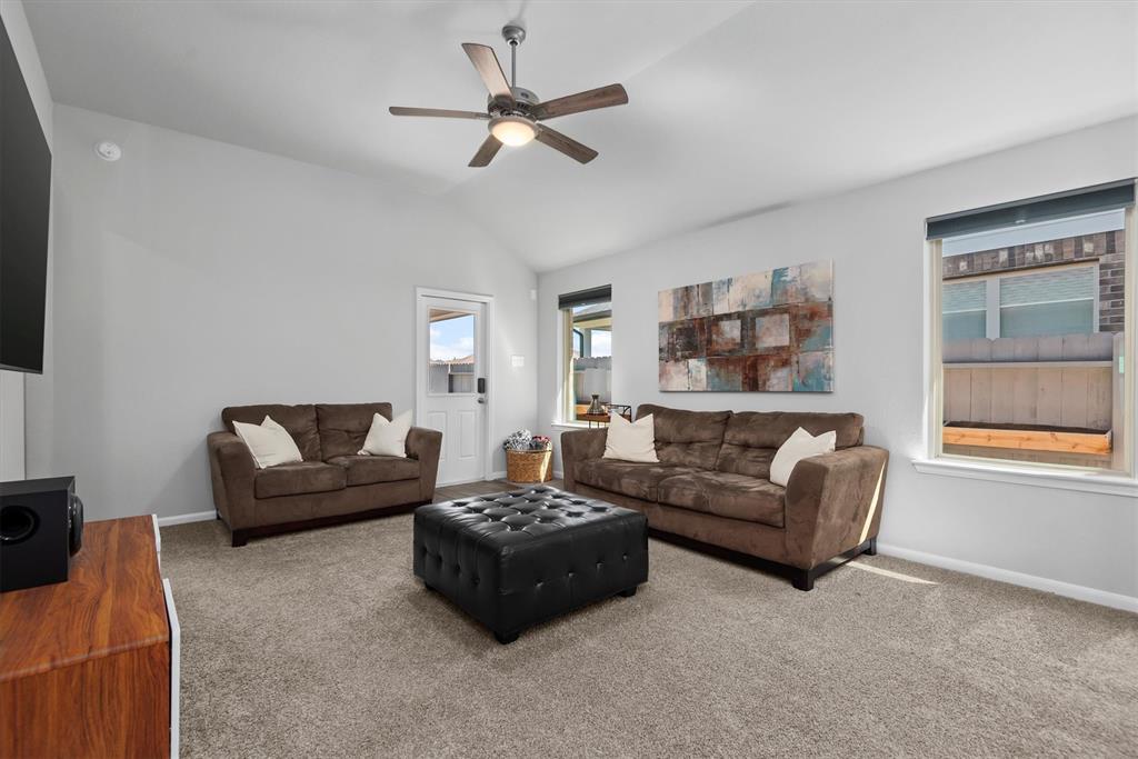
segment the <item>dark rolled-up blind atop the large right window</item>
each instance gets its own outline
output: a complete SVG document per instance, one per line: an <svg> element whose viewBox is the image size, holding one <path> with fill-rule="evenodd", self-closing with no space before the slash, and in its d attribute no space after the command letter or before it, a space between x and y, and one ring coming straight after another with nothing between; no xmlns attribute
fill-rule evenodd
<svg viewBox="0 0 1138 759"><path fill-rule="evenodd" d="M1135 180L1095 184L925 220L925 238L940 240L996 229L1081 216L1135 205Z"/></svg>

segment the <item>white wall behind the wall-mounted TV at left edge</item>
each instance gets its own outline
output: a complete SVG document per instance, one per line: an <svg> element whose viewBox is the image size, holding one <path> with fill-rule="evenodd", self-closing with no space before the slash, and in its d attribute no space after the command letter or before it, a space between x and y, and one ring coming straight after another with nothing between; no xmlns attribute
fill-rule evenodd
<svg viewBox="0 0 1138 759"><path fill-rule="evenodd" d="M32 30L24 16L24 6L19 0L0 0L0 19L3 19L8 39L11 40L16 60L19 61L24 82L32 96L32 104L40 117L40 125L51 148L51 93L48 91L48 80L43 76L40 55L35 50ZM51 261L51 238L48 237L48 261ZM50 299L50 274L48 292ZM50 307L50 306L49 306ZM44 346L44 352L49 350ZM0 480L24 479L24 374L0 371Z"/></svg>

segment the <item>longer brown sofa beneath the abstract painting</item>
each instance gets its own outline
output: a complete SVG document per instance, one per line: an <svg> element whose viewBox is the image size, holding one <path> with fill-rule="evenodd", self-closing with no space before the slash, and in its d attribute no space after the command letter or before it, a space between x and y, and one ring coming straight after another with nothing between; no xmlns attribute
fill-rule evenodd
<svg viewBox="0 0 1138 759"><path fill-rule="evenodd" d="M561 435L566 489L637 509L658 537L747 559L809 591L841 560L876 551L889 452L863 445L860 414L698 412L645 404L658 464L602 459L604 429ZM770 462L805 428L836 451L798 463L787 486Z"/></svg>

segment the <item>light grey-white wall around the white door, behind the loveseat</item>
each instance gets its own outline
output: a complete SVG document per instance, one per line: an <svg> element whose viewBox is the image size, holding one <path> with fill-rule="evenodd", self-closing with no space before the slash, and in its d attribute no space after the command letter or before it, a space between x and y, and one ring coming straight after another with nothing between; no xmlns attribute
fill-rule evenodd
<svg viewBox="0 0 1138 759"><path fill-rule="evenodd" d="M223 406L413 407L415 286L495 296L493 434L533 427L536 277L450 207L88 110L55 118L53 388L28 386L28 469L75 473L89 518L212 510ZM99 159L100 139L123 158Z"/></svg>

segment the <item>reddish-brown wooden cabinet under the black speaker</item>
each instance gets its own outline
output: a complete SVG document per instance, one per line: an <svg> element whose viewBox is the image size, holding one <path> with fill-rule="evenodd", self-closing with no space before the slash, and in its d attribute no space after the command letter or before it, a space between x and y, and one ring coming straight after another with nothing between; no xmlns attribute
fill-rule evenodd
<svg viewBox="0 0 1138 759"><path fill-rule="evenodd" d="M68 581L0 595L0 757L176 754L158 551L150 517L89 522Z"/></svg>

